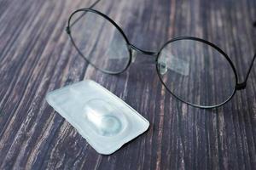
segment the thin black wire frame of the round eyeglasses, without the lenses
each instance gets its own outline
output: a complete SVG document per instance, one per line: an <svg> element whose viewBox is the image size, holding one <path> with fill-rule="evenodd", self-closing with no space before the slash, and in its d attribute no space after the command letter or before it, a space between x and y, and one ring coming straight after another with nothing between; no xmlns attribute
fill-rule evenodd
<svg viewBox="0 0 256 170"><path fill-rule="evenodd" d="M96 3L98 3L100 0L98 0ZM221 49L221 48L218 48L217 45L213 44L212 42L208 42L207 40L204 40L204 39L201 39L201 38L198 38L198 37L175 37L173 39L171 39L170 41L167 41L159 50L159 52L155 53L155 52L150 52L150 51L144 51L143 49L140 49L140 48L137 48L136 46L132 45L128 38L125 36L125 32L112 20L110 19L106 14L102 14L101 12L95 10L95 9L92 9L93 6L96 5L96 3L94 3L93 5L91 5L90 8L79 8L77 10L75 10L70 16L69 16L69 19L68 19L68 22L67 22L67 28L66 28L66 31L67 31L67 34L69 35L69 37L71 38L71 42L73 43L73 46L77 49L77 51L79 52L79 54L88 62L90 63L90 65L93 65L96 69L102 71L102 72L105 72L105 73L108 73L108 74L113 74L113 75L117 75L117 74L120 74L124 71L127 70L127 68L131 65L131 60L132 60L132 50L135 50L136 52L139 52L140 54L146 54L146 55L154 55L156 56L155 58L155 66L156 66L156 71L157 71L157 74L158 74L158 77L160 78L160 82L164 85L164 87L166 88L166 90L172 94L172 96L174 96L176 99L182 101L183 103L186 103L188 105L192 105L192 106L195 106L195 107L198 107L198 108L202 108L202 109L212 109L212 108L217 108L221 105L224 105L225 103L227 103L228 101L230 101L230 99L232 99L232 97L236 94L236 91L237 90L241 90L241 89L244 89L246 88L247 86L247 78L252 70L252 67L253 67L253 62L256 58L256 54L254 54L253 56L253 59L251 61L251 64L249 65L249 69L247 71L247 75L246 75L246 78L243 82L239 83L238 82L238 76L237 76L237 71L236 71L236 68L235 68L235 65L233 64L232 60L230 59L230 57L224 53L224 51ZM76 43L73 41L73 37L72 37L72 34L71 34L71 30L70 28L73 26L73 24L75 22L77 22L82 16L84 16L84 14L82 14L77 20L75 20L73 23L71 23L71 19L73 17L74 14L78 13L78 12L84 12L84 14L86 14L87 12L91 12L91 13L94 13L94 14L99 14L101 15L104 19L108 20L111 24L113 24L113 26L115 26L117 28L117 30L121 33L121 35L124 37L125 39L125 42L126 42L126 45L127 45L127 48L129 50L129 55L130 55L130 59L127 63L127 65L125 65L125 69L122 70L122 71L118 71L118 72L113 72L113 71L104 71L102 70L101 68L98 68L96 65L92 64L90 62L89 59L86 59L84 57L84 54L79 50L79 48L77 47ZM253 24L253 26L255 26L255 23ZM159 71L159 67L158 67L158 59L160 57L160 53L162 51L163 48L166 47L166 45L168 45L169 43L172 43L172 42L176 42L176 41L179 41L179 40L194 40L194 41L197 41L197 42L203 42L205 44L207 44L208 46L211 46L212 48L216 49L220 54L222 54L224 56L225 59L227 59L227 61L229 62L233 72L234 72L234 75L235 75L235 78L236 78L236 86L234 88L234 91L233 93L230 95L230 97L226 100L224 100L224 102L218 104L218 105L211 105L211 106L203 106L203 105L195 105L195 104L192 104L192 103L189 103L181 98L179 98L176 94L173 94L172 91L166 86L165 82L163 82L161 76L160 76L160 71Z"/></svg>

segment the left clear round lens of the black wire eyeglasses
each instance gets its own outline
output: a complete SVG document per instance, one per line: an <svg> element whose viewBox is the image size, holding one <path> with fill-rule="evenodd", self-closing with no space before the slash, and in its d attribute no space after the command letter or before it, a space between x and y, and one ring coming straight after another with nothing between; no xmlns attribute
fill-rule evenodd
<svg viewBox="0 0 256 170"><path fill-rule="evenodd" d="M90 11L79 11L70 20L71 38L79 54L107 73L125 71L130 51L125 37L109 20Z"/></svg>

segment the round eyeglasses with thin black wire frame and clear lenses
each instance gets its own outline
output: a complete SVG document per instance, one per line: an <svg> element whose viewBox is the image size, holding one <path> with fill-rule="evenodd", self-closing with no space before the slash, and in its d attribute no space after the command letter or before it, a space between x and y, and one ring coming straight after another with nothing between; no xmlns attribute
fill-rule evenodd
<svg viewBox="0 0 256 170"><path fill-rule="evenodd" d="M100 71L119 74L134 62L137 53L154 56L157 74L166 90L199 108L224 105L237 90L246 88L256 54L245 80L238 82L230 57L212 42L177 37L166 42L159 52L145 51L132 45L107 15L92 9L96 3L74 11L66 31L79 54Z"/></svg>

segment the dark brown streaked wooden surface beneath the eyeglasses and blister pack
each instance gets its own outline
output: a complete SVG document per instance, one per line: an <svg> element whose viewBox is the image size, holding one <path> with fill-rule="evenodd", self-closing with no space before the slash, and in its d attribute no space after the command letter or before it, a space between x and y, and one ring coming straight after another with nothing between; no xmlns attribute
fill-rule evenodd
<svg viewBox="0 0 256 170"><path fill-rule="evenodd" d="M217 110L185 105L166 93L148 58L111 76L79 56L67 18L93 1L0 1L0 169L256 169L256 69L247 88ZM256 49L255 0L102 0L139 48L157 51L172 37L217 44L240 80ZM150 122L146 133L111 156L96 153L45 101L45 94L90 78Z"/></svg>

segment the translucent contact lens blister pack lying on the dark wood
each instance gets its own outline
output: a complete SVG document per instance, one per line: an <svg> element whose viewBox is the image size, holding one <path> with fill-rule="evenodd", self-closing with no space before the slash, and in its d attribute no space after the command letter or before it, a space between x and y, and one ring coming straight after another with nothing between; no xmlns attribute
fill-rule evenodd
<svg viewBox="0 0 256 170"><path fill-rule="evenodd" d="M91 80L52 91L46 100L104 155L112 154L149 126L130 105Z"/></svg>

